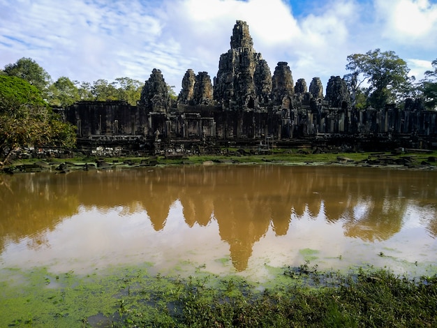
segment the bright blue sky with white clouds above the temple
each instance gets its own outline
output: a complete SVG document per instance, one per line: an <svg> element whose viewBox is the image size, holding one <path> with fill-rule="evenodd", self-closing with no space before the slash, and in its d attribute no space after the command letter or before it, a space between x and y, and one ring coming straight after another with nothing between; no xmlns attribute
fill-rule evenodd
<svg viewBox="0 0 437 328"><path fill-rule="evenodd" d="M437 59L437 0L0 0L0 68L30 57L53 80L86 82L158 68L179 93L188 68L216 75L236 20L272 73L287 61L307 84L376 48L417 78Z"/></svg>

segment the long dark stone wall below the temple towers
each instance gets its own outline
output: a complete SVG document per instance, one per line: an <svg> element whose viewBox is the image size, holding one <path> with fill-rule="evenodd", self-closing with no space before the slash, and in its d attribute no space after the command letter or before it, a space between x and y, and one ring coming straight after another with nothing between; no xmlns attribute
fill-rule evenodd
<svg viewBox="0 0 437 328"><path fill-rule="evenodd" d="M77 126L77 136L136 135L147 140L186 139L290 140L318 134L396 137L437 137L437 112L385 108L354 110L309 107L287 110L226 111L219 106L179 106L172 112L153 112L121 102L81 102L65 111Z"/></svg>

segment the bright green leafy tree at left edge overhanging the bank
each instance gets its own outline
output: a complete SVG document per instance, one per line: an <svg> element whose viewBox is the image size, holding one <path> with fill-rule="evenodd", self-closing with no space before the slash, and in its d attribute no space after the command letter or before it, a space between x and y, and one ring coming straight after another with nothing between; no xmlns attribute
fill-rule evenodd
<svg viewBox="0 0 437 328"><path fill-rule="evenodd" d="M34 85L0 75L0 166L15 149L42 145L74 147L75 128L52 112Z"/></svg>

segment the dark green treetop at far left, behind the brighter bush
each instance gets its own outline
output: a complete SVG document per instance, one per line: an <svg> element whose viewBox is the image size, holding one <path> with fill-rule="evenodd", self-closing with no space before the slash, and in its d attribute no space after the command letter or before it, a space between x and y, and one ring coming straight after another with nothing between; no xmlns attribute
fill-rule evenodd
<svg viewBox="0 0 437 328"><path fill-rule="evenodd" d="M47 94L47 87L50 85L51 77L34 59L25 57L18 59L15 64L6 65L4 73L26 80L34 85L43 96Z"/></svg>

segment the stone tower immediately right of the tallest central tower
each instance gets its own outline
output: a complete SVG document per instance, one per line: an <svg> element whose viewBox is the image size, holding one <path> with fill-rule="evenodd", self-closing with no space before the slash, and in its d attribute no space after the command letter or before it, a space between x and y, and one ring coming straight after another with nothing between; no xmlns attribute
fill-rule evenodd
<svg viewBox="0 0 437 328"><path fill-rule="evenodd" d="M290 109L294 94L292 74L286 61L279 61L272 77L272 101L274 105L283 105Z"/></svg>

